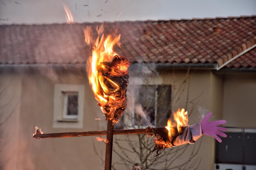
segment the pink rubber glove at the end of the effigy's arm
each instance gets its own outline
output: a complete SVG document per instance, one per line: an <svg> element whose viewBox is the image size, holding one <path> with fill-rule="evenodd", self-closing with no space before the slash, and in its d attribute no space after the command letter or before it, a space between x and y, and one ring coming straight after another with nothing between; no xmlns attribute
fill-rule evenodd
<svg viewBox="0 0 256 170"><path fill-rule="evenodd" d="M212 113L208 113L204 119L201 121L202 134L214 137L218 142L222 142L219 136L227 137L227 135L223 132L226 132L227 129L223 127L218 127L221 124L226 124L225 120L216 120L216 121L208 121L211 117ZM223 131L223 132L221 132Z"/></svg>

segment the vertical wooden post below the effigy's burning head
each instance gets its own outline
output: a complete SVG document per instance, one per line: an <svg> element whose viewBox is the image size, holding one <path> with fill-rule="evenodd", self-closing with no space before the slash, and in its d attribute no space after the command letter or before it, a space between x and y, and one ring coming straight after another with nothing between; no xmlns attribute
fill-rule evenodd
<svg viewBox="0 0 256 170"><path fill-rule="evenodd" d="M107 128L108 142L106 143L105 170L111 170L113 134L114 134L114 124L112 121L109 120L108 128Z"/></svg>

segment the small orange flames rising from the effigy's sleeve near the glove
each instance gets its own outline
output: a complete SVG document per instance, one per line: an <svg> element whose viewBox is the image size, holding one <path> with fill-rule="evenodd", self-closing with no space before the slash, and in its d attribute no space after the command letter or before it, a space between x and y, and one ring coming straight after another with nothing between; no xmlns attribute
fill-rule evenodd
<svg viewBox="0 0 256 170"><path fill-rule="evenodd" d="M189 126L189 117L188 112L185 112L185 109L180 108L177 112L173 114L174 123L171 121L171 118L168 119L167 126L165 128L168 130L168 136L173 137L175 135L175 127L177 127L178 132L182 132L182 128Z"/></svg>

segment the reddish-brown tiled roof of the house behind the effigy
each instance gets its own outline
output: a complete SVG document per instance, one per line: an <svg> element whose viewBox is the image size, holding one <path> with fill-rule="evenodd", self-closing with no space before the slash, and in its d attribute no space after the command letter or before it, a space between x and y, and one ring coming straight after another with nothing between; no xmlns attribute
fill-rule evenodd
<svg viewBox="0 0 256 170"><path fill-rule="evenodd" d="M0 64L84 64L90 54L83 29L101 23L0 25ZM121 33L116 51L130 62L218 63L256 44L256 16L106 22ZM96 32L96 31L95 31ZM96 35L95 35L96 36ZM256 67L256 48L227 65Z"/></svg>

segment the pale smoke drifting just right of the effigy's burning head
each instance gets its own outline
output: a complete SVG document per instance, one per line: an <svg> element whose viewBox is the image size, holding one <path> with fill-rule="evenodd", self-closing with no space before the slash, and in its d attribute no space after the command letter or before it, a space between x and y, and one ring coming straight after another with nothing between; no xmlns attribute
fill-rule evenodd
<svg viewBox="0 0 256 170"><path fill-rule="evenodd" d="M149 113L144 109L140 100L140 91L150 78L157 76L155 64L137 63L129 68L129 84L127 88L127 108L124 112L124 127L138 128L139 126L153 126ZM154 96L152 96L154 97ZM145 99L147 100L147 99ZM148 98L148 100L150 100Z"/></svg>

